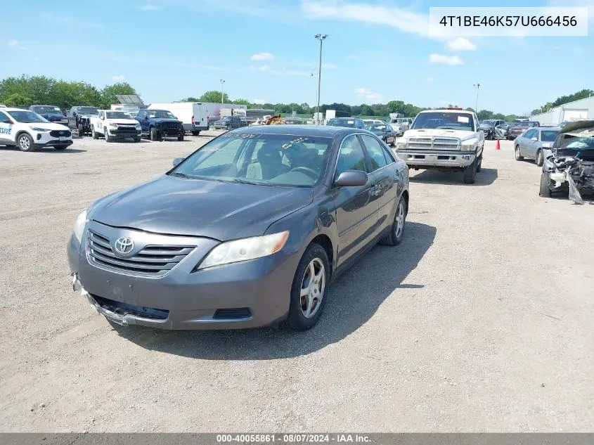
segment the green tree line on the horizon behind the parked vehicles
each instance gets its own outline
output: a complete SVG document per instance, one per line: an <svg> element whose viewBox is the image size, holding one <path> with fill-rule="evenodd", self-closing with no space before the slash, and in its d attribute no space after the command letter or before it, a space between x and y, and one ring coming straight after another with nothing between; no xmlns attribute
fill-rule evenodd
<svg viewBox="0 0 594 445"><path fill-rule="evenodd" d="M56 105L60 108L68 109L74 105L89 105L98 108L110 108L112 103L117 103L116 96L119 94L137 94L136 89L127 82L117 82L116 84L105 86L102 89L97 88L86 82L70 82L65 80L53 79L46 76L27 76L6 77L0 81L0 103L9 107L27 108L34 104ZM532 110L533 115L545 112L549 108L563 105L564 103L577 101L594 94L593 90L583 89L569 96L561 96L555 101L546 103L541 108ZM221 97L222 96L222 97ZM227 93L210 90L205 91L200 97L187 97L181 101L188 102L214 102L236 103L238 105L247 105L247 108L264 108L274 110L276 114L312 115L316 111L315 106L308 103L252 103L243 98L231 99ZM453 106L453 105L449 105ZM441 107L444 108L444 107ZM415 117L418 112L428 108L418 107L411 103L403 101L389 101L388 103L362 103L361 105L348 105L346 103L330 103L320 105L320 111L339 110L350 113L352 116L377 116L387 117L390 113L397 112L407 117ZM466 108L472 110L472 108ZM474 110L472 110L474 111ZM503 115L502 113L491 110L479 110L477 112L479 120L503 119L512 121L519 115Z"/></svg>

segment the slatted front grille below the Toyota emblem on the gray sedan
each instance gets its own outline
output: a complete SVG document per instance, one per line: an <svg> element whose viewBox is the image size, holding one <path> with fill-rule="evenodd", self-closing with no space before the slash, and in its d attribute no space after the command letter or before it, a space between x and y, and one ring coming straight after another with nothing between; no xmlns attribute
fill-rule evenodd
<svg viewBox="0 0 594 445"><path fill-rule="evenodd" d="M164 276L181 262L195 246L147 245L133 257L118 257L110 240L89 230L86 236L87 258L93 266L122 271L129 275Z"/></svg>

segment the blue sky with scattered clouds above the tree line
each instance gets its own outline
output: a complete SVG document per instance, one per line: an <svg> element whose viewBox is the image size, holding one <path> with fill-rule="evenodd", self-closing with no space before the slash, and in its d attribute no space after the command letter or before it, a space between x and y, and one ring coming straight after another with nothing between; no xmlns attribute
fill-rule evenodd
<svg viewBox="0 0 594 445"><path fill-rule="evenodd" d="M557 3L555 3L557 2ZM498 0L493 6L588 6L593 0ZM588 37L436 39L430 6L451 0L27 0L3 8L0 76L48 75L104 86L120 79L146 103L209 89L250 101L322 103L402 100L524 113L594 89ZM485 5L486 6L486 5ZM26 24L26 26L23 26Z"/></svg>

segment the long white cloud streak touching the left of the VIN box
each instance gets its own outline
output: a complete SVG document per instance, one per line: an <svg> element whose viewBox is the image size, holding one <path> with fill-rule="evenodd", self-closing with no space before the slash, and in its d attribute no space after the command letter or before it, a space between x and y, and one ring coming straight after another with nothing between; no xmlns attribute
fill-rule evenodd
<svg viewBox="0 0 594 445"><path fill-rule="evenodd" d="M394 6L376 6L370 4L343 4L336 1L304 0L302 10L310 18L334 18L377 23L395 27L403 32L431 37L429 34L429 16L413 13L408 9Z"/></svg>

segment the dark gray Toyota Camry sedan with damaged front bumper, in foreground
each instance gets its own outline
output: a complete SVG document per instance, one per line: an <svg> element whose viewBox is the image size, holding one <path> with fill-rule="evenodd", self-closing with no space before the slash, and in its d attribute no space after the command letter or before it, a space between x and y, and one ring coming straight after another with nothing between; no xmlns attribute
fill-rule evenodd
<svg viewBox="0 0 594 445"><path fill-rule="evenodd" d="M82 212L73 288L119 325L306 330L333 278L400 243L407 211L406 164L369 131L245 127Z"/></svg>

